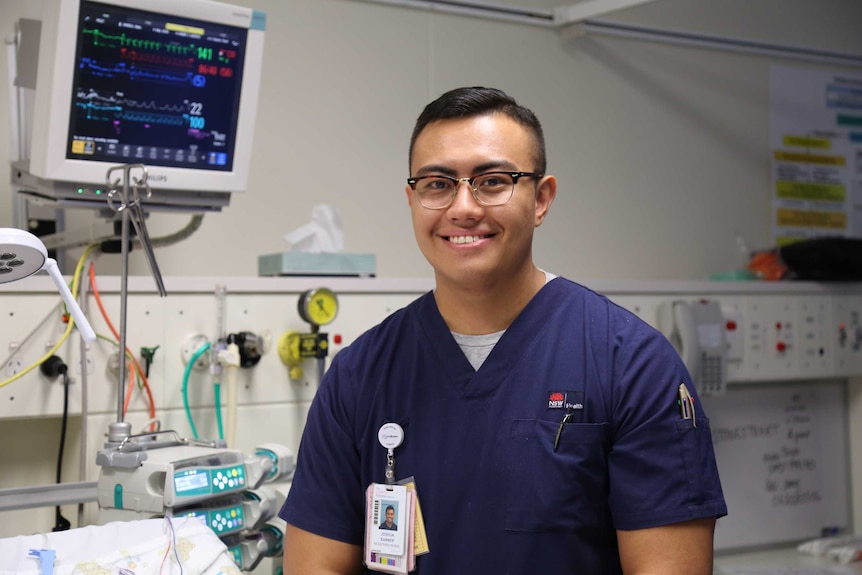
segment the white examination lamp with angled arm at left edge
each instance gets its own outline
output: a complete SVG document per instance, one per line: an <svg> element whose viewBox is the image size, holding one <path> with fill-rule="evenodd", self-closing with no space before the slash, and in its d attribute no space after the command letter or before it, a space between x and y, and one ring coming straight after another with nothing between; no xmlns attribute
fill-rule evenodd
<svg viewBox="0 0 862 575"><path fill-rule="evenodd" d="M69 286L63 281L57 262L48 257L48 250L42 240L24 230L0 228L0 284L18 281L42 270L54 280L84 341L96 341L96 333L69 291Z"/></svg>

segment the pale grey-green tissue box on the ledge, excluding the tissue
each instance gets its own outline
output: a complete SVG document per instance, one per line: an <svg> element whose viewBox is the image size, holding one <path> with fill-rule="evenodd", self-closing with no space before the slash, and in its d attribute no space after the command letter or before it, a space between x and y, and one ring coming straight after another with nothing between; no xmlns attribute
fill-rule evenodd
<svg viewBox="0 0 862 575"><path fill-rule="evenodd" d="M374 254L285 252L257 257L259 276L374 277Z"/></svg>

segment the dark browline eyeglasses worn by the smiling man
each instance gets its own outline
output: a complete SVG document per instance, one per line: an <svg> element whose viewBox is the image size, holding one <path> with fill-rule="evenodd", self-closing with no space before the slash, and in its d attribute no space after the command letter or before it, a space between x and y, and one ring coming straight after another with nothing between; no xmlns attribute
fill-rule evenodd
<svg viewBox="0 0 862 575"><path fill-rule="evenodd" d="M472 178L452 178L434 174L407 178L407 183L416 192L420 204L429 210L442 210L455 200L461 182L470 185L473 197L483 206L502 206L512 199L519 179L539 179L542 175L535 172L486 172Z"/></svg>

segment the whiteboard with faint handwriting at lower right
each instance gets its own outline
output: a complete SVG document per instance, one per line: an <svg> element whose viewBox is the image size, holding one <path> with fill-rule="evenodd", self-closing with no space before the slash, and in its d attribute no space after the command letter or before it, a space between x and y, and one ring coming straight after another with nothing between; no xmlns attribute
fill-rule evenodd
<svg viewBox="0 0 862 575"><path fill-rule="evenodd" d="M841 381L730 386L704 397L728 515L716 549L789 543L850 524Z"/></svg>

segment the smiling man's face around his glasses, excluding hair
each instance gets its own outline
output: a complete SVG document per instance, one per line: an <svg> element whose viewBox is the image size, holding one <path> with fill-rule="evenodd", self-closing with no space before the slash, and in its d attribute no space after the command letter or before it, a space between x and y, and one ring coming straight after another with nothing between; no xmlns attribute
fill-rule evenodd
<svg viewBox="0 0 862 575"><path fill-rule="evenodd" d="M531 133L503 114L441 120L419 134L410 171L455 178L494 170L533 172L533 150ZM462 183L449 207L429 210L407 186L416 241L434 267L438 287L469 288L472 282L479 288L477 282L504 280L531 265L533 230L553 200L553 178L543 178L539 190L535 179L525 177L507 204L483 206Z"/></svg>

